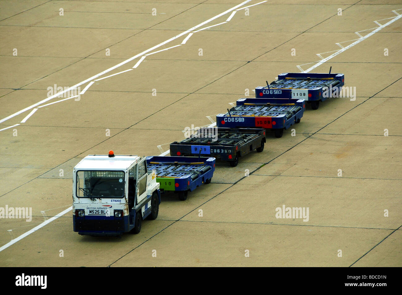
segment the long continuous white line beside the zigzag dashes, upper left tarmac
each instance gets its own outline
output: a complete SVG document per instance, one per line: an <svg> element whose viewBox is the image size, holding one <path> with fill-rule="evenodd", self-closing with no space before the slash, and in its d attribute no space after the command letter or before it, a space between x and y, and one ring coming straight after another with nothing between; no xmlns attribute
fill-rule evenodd
<svg viewBox="0 0 402 295"><path fill-rule="evenodd" d="M222 15L228 14L229 12L235 10L236 8L242 6L242 5L244 5L244 4L246 4L246 3L250 2L250 1L251 0L246 0L246 1L234 6L232 8L229 8L228 10L215 15L215 17L211 17L210 19L208 19L206 21L203 21L202 23L199 23L198 25L192 27L191 29L188 29L187 31L184 31L184 32L182 32L182 33L180 33L180 34L178 34L178 35L176 35L176 36L174 36L174 37L172 37L172 38L170 38L170 39L168 39L166 41L163 41L162 43L159 43L158 45L155 45L155 46L153 46L151 48L148 48L147 50L145 50L145 51L143 51L143 52L141 52L139 54L136 54L135 56L133 56L133 57L127 59L127 60L124 60L123 62L121 62L121 63L119 63L119 64L117 64L115 66L112 66L111 68L108 68L107 70L104 70L103 72L100 72L100 73L98 73L98 74L96 74L96 75L94 75L94 76L92 76L92 77L90 77L90 78L88 78L88 79L86 79L86 80L84 80L84 81L82 81L82 82L80 82L80 83L68 88L68 89L64 89L63 91L60 91L60 92L58 92L58 93L56 93L56 94L54 94L54 95L52 95L50 97L47 97L46 99L43 99L43 100L41 100L41 101L39 101L39 102L37 102L37 103L35 103L33 105L30 105L29 107L26 107L25 109L21 109L21 111L17 111L16 113L13 113L12 115L1 119L0 124L2 122L4 122L4 121L7 121L7 120L11 119L11 118L14 118L15 116L18 116L21 113L24 113L25 111L28 111L29 109L32 109L32 108L36 107L37 105L41 105L42 103L44 103L46 101L49 101L49 100L59 96L60 94L63 94L63 93L66 93L67 91L76 89L78 86L81 86L81 85L83 85L83 84L85 84L87 82L90 82L94 78L98 78L99 76L102 76L103 74L106 74L106 73L108 73L108 72L110 72L110 71L112 71L112 70L114 70L116 68L119 68L120 66L123 66L123 64L127 64L127 62L131 62L132 60L135 60L139 56L143 56L147 52L150 52L150 51L152 51L152 50L154 50L154 49L156 49L158 47L161 47L161 46L163 46L163 45L165 45L165 44L167 44L167 43L169 43L169 42L171 42L171 41L173 41L173 40L175 40L177 38L180 38L181 36L186 35L186 34L190 33L191 31L193 31L193 30L195 30L195 29L197 29L199 27L202 27L203 25L205 25L207 23L210 23L211 21L213 21L213 20L215 20L215 19L217 19L219 17L222 17Z"/></svg>

